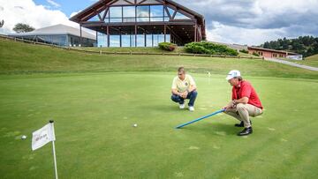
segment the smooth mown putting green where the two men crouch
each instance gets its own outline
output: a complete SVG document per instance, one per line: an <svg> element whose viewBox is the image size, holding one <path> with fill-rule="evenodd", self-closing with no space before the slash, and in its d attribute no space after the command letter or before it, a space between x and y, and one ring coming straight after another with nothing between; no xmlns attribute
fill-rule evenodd
<svg viewBox="0 0 318 179"><path fill-rule="evenodd" d="M52 178L51 145L31 152L31 133L55 120L61 178L314 178L318 175L318 80L252 78L264 114L239 138L223 114L184 129L230 100L223 76L193 74L195 112L170 101L174 73L0 76L2 178ZM137 123L138 127L133 127ZM21 140L27 135L26 140Z"/></svg>

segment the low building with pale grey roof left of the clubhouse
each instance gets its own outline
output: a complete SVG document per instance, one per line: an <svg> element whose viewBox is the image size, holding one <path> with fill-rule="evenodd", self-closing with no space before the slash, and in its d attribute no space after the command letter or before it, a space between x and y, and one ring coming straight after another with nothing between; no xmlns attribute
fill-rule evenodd
<svg viewBox="0 0 318 179"><path fill-rule="evenodd" d="M96 37L85 31L79 33L79 29L72 26L56 25L39 28L30 33L9 34L19 39L55 44L58 46L94 47Z"/></svg>

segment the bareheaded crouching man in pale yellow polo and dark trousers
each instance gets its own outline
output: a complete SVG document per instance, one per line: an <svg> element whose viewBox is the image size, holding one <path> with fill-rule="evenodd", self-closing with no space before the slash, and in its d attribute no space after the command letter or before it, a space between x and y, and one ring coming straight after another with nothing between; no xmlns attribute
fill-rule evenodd
<svg viewBox="0 0 318 179"><path fill-rule="evenodd" d="M178 76L173 78L171 86L171 100L179 103L179 108L186 107L186 99L189 99L189 110L194 111L194 101L198 95L193 78L186 74L185 68L178 68Z"/></svg>

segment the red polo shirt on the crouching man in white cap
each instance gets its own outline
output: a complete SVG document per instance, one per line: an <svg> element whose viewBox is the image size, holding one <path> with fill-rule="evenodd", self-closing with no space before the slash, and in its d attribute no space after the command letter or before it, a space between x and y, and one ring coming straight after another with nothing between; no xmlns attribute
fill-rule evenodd
<svg viewBox="0 0 318 179"><path fill-rule="evenodd" d="M239 86L233 86L232 89L232 100L239 100L243 97L248 98L247 104L251 104L257 108L263 108L254 87L246 80L240 81Z"/></svg>

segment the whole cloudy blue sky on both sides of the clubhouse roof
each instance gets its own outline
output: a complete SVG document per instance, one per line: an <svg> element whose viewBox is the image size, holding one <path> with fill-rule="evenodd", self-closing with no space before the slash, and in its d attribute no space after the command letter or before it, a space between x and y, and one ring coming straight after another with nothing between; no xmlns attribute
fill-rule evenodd
<svg viewBox="0 0 318 179"><path fill-rule="evenodd" d="M64 24L97 0L0 0L0 33L17 23L35 28ZM278 38L318 36L318 0L175 0L206 19L208 41L260 45Z"/></svg>

